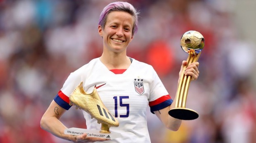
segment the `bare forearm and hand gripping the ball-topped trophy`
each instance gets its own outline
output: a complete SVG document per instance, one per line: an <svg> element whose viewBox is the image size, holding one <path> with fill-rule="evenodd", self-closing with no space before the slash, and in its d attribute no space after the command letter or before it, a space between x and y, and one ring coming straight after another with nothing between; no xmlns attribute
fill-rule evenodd
<svg viewBox="0 0 256 143"><path fill-rule="evenodd" d="M187 65L187 61L183 61L180 72L179 72L179 80L178 81L180 81L181 76L183 76L183 75L181 75L182 69L186 65ZM188 76L188 75L191 76L192 80L196 80L199 76L198 66L199 66L199 62L191 63L186 68L186 71L184 72L184 74L186 76ZM176 93L176 95L177 95L177 93ZM167 127L167 129L170 129L172 131L177 131L182 123L182 120L173 118L168 114L170 109L175 107L175 102L176 102L176 96L175 96L175 99L173 100L173 103L170 106L167 106L159 111L154 111L156 116L163 122L163 124Z"/></svg>

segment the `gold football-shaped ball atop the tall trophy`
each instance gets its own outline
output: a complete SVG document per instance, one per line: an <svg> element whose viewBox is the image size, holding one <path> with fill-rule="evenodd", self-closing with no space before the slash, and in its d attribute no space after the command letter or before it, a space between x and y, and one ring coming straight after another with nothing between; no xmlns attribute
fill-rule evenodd
<svg viewBox="0 0 256 143"><path fill-rule="evenodd" d="M180 46L188 54L198 54L204 47L203 35L197 31L187 31L180 39Z"/></svg>

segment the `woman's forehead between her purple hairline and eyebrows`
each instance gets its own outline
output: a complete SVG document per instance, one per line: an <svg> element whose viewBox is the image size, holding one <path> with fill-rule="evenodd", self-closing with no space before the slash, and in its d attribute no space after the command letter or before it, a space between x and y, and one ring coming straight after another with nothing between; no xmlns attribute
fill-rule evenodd
<svg viewBox="0 0 256 143"><path fill-rule="evenodd" d="M127 25L133 25L133 17L128 12L110 12L107 17L106 24L111 23L125 23Z"/></svg>

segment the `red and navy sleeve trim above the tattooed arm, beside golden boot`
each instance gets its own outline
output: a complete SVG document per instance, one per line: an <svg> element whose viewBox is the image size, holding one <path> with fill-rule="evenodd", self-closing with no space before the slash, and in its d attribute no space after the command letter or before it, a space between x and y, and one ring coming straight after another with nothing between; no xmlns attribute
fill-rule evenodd
<svg viewBox="0 0 256 143"><path fill-rule="evenodd" d="M54 101L66 110L69 110L69 108L71 107L69 105L69 97L62 93L62 91L58 92L58 94L54 97Z"/></svg>

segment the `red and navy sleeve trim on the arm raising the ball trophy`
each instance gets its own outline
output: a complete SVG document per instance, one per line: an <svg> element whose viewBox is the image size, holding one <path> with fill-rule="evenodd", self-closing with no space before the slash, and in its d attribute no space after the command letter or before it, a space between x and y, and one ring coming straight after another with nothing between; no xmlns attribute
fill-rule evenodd
<svg viewBox="0 0 256 143"><path fill-rule="evenodd" d="M149 102L149 107L151 113L154 114L154 111L158 111L172 104L173 100L170 95L162 96L154 101Z"/></svg>

